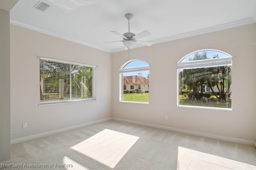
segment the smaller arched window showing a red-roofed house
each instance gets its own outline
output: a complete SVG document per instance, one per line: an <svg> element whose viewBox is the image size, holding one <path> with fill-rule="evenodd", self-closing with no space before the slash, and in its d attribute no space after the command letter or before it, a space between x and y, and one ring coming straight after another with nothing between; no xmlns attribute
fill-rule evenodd
<svg viewBox="0 0 256 170"><path fill-rule="evenodd" d="M145 61L125 63L120 73L120 102L149 103L149 65Z"/></svg>

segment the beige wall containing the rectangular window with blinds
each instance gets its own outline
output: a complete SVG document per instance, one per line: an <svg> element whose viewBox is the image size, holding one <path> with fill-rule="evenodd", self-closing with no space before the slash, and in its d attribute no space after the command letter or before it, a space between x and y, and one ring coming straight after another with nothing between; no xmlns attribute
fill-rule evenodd
<svg viewBox="0 0 256 170"><path fill-rule="evenodd" d="M111 53L10 25L11 139L109 118ZM36 56L92 64L96 68L96 101L50 106L40 102L40 70ZM27 122L27 128L22 123Z"/></svg>

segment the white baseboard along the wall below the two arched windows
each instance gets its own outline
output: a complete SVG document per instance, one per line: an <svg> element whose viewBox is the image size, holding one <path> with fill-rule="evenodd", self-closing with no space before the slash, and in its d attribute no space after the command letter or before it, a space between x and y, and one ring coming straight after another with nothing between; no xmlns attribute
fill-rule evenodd
<svg viewBox="0 0 256 170"><path fill-rule="evenodd" d="M127 119L119 119L119 118L114 118L114 117L112 119L117 120L117 121L123 121L123 122L126 122L126 123L133 123L133 124L137 124L137 125L144 125L144 126L148 126L148 127L154 127L154 128L158 128L158 129L165 129L165 130L170 130L170 131L179 132L179 133L186 133L186 134L189 134L189 135L208 137L208 138L212 138L212 139L218 139L218 140L229 141L229 142L234 142L234 143L241 143L241 144L246 144L246 145L255 145L255 147L256 147L256 142L255 141L248 141L248 140L244 140L244 139L237 139L237 138L232 138L232 137L212 135L212 134L196 132L196 131L188 131L188 130L184 130L184 129L177 129L177 128L173 128L173 127L154 125L154 124L143 123L143 122L139 122L139 121L131 121L131 120L127 120Z"/></svg>

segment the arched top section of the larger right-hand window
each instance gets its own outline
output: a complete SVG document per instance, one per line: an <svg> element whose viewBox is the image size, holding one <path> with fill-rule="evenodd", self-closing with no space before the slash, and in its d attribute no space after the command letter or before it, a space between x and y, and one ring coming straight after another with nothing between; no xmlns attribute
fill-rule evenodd
<svg viewBox="0 0 256 170"><path fill-rule="evenodd" d="M205 49L194 51L178 62L178 68L200 68L209 66L219 66L231 64L232 56L228 53L218 50Z"/></svg>

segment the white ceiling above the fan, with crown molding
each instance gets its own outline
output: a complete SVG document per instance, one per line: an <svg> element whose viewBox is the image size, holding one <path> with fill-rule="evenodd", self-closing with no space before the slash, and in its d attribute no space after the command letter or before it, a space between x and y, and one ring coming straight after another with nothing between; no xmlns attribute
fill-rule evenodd
<svg viewBox="0 0 256 170"><path fill-rule="evenodd" d="M124 50L104 42L122 40L110 31L128 32L126 13L130 31L149 31L140 40L154 44L256 22L256 0L41 0L50 5L44 12L37 2L19 0L10 22L108 52Z"/></svg>

